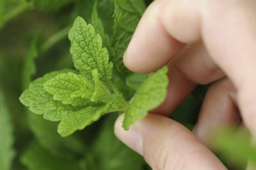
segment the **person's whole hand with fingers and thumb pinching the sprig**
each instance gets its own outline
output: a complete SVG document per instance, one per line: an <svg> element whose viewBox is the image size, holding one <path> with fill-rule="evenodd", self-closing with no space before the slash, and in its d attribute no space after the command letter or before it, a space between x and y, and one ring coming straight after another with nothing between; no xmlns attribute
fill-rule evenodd
<svg viewBox="0 0 256 170"><path fill-rule="evenodd" d="M256 1L156 0L124 55L127 68L168 65L168 96L154 114L115 134L153 169L226 169L207 148L214 127L243 124L256 135ZM209 84L193 132L170 120L196 84Z"/></svg>

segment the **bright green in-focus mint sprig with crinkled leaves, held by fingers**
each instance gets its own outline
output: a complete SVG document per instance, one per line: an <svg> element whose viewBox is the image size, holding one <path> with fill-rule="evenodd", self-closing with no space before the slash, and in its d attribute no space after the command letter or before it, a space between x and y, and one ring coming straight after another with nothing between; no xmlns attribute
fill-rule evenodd
<svg viewBox="0 0 256 170"><path fill-rule="evenodd" d="M96 23L100 24L99 20ZM46 120L60 121L58 133L63 137L99 120L103 114L116 111L125 112L123 127L128 130L163 102L168 86L166 66L150 75L128 104L111 81L113 63L92 24L77 17L68 38L77 70L47 73L31 82L20 96L20 102L31 112L43 114Z"/></svg>

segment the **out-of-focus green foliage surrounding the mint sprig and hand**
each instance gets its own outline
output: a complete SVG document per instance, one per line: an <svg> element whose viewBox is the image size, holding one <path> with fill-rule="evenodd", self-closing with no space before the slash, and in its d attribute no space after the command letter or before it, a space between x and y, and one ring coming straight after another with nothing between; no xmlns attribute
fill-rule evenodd
<svg viewBox="0 0 256 170"><path fill-rule="evenodd" d="M151 2L145 0L146 6ZM73 67L67 34L78 15L95 26L97 17L92 13L97 8L107 37L116 38L113 36L114 3L114 0L99 0L95 6L94 0L0 0L0 169L149 168L140 155L113 134L118 114L101 118L63 138L56 131L58 123L31 114L19 102L20 94L32 80L53 70ZM122 3L116 0L116 6ZM141 15L145 6L136 7L130 10L137 10ZM126 34L131 38L132 32ZM120 42L123 46L111 54L113 57L118 53L116 63L121 67L120 56L128 42L129 38L125 38ZM128 72L125 80L114 77L118 89L129 99L133 94L127 88L136 91L147 75ZM192 129L206 89L207 86L196 88L171 117ZM250 137L244 136L245 132L228 129L221 130L212 140L218 153L225 153L218 154L225 165L241 161L241 167L245 168L247 160L256 162L256 149L250 145Z"/></svg>

